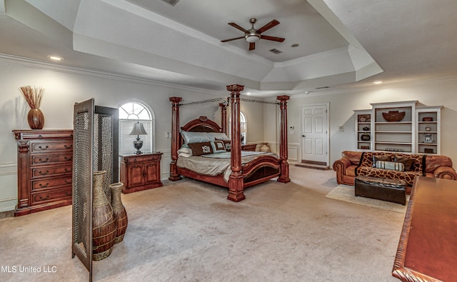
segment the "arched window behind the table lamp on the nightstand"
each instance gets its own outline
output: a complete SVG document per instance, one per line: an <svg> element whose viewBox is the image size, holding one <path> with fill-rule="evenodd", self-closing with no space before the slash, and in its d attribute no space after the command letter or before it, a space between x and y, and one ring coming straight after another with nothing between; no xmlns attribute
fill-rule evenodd
<svg viewBox="0 0 457 282"><path fill-rule="evenodd" d="M119 107L119 153L135 153L137 135L130 135L134 124L143 124L147 135L139 135L143 146L140 151L154 151L154 114L138 102L129 102Z"/></svg>

